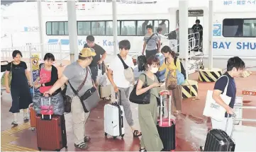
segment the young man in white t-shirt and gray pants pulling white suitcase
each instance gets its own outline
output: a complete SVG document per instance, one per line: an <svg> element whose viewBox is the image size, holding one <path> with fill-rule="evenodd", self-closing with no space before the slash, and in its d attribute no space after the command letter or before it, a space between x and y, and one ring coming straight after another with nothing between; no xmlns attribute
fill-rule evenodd
<svg viewBox="0 0 256 152"><path fill-rule="evenodd" d="M128 40L122 40L121 42L119 42L119 55L121 56L121 59L123 59L123 62L125 62L127 66L131 67L133 66L133 59L128 55L129 49L130 42ZM108 68L108 78L113 86L113 89L116 93L118 93L118 98L121 97L119 102L120 105L123 105L126 120L133 131L133 137L138 137L141 136L141 132L135 129L132 111L130 110L129 89L131 83L126 80L126 77L124 75L124 66L121 62L121 59L116 56L112 60Z"/></svg>

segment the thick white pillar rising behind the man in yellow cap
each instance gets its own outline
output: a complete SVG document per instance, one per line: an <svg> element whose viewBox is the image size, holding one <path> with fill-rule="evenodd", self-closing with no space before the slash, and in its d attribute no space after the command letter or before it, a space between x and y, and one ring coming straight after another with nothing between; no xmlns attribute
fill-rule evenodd
<svg viewBox="0 0 256 152"><path fill-rule="evenodd" d="M69 27L69 52L70 61L78 59L78 41L77 41L77 12L76 1L67 1L67 18Z"/></svg>

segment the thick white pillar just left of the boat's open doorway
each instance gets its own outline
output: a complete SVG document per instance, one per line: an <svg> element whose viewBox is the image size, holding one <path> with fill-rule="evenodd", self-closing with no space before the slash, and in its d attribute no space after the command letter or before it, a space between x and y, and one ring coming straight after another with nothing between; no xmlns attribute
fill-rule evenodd
<svg viewBox="0 0 256 152"><path fill-rule="evenodd" d="M179 1L179 59L184 60L187 79L189 78L188 58L189 58L189 1Z"/></svg>

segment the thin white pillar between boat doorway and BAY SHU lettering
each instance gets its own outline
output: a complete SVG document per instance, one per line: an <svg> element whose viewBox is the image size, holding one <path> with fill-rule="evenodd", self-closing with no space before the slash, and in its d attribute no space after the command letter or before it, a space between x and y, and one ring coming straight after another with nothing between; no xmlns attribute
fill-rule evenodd
<svg viewBox="0 0 256 152"><path fill-rule="evenodd" d="M208 41L208 45L209 45L209 53L208 53L208 69L212 69L213 68L213 1L209 1L209 29L208 29L208 33L209 33L209 41Z"/></svg>

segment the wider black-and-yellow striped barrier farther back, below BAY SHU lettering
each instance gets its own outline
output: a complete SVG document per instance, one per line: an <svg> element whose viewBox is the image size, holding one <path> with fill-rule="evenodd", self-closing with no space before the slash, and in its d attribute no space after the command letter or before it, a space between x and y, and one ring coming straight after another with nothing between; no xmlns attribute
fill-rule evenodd
<svg viewBox="0 0 256 152"><path fill-rule="evenodd" d="M211 70L199 69L199 81L202 82L216 82L222 75L222 69L213 68Z"/></svg>

